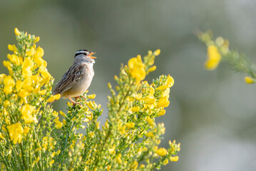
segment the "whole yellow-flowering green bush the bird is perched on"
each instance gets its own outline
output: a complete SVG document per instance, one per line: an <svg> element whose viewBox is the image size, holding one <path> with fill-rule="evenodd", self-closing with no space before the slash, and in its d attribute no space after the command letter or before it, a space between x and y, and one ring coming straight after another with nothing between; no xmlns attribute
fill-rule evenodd
<svg viewBox="0 0 256 171"><path fill-rule="evenodd" d="M130 58L115 76L118 86L108 88L108 119L100 128L101 105L86 95L81 105L67 103L67 112L55 111L48 103L53 77L43 60L39 37L14 30L18 46L4 61L9 75L0 75L0 168L1 170L154 170L178 161L180 144L158 147L163 139L163 123L171 76L160 76L149 84L145 76L155 70L160 50ZM60 120L59 115L64 119ZM85 135L78 132L85 130Z"/></svg>

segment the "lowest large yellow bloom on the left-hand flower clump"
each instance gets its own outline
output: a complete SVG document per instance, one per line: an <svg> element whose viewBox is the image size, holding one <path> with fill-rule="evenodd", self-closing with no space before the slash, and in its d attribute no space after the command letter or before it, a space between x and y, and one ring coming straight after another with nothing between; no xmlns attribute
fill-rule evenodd
<svg viewBox="0 0 256 171"><path fill-rule="evenodd" d="M22 133L24 132L24 129L22 128L20 123L15 123L12 125L8 125L7 129L9 131L9 136L11 140L14 140L14 144L17 142L21 143L22 140Z"/></svg>

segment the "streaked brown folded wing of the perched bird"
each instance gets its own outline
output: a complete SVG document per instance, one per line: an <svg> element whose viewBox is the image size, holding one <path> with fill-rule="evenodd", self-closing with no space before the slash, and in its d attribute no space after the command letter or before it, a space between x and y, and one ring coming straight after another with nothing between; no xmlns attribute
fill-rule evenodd
<svg viewBox="0 0 256 171"><path fill-rule="evenodd" d="M76 83L86 76L86 72L83 69L86 67L85 63L82 64L76 64L74 63L71 68L66 71L64 76L61 78L61 81L58 81L56 88L53 91L53 94L60 93L61 95L66 93L67 90L72 88Z"/></svg>

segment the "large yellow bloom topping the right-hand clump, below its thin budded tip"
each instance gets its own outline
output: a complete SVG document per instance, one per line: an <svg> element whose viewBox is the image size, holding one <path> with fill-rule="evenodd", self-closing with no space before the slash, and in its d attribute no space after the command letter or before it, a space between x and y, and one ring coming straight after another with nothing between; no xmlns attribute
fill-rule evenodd
<svg viewBox="0 0 256 171"><path fill-rule="evenodd" d="M130 58L128 67L130 68L130 76L136 80L142 81L145 78L145 64L141 61L141 58Z"/></svg>

